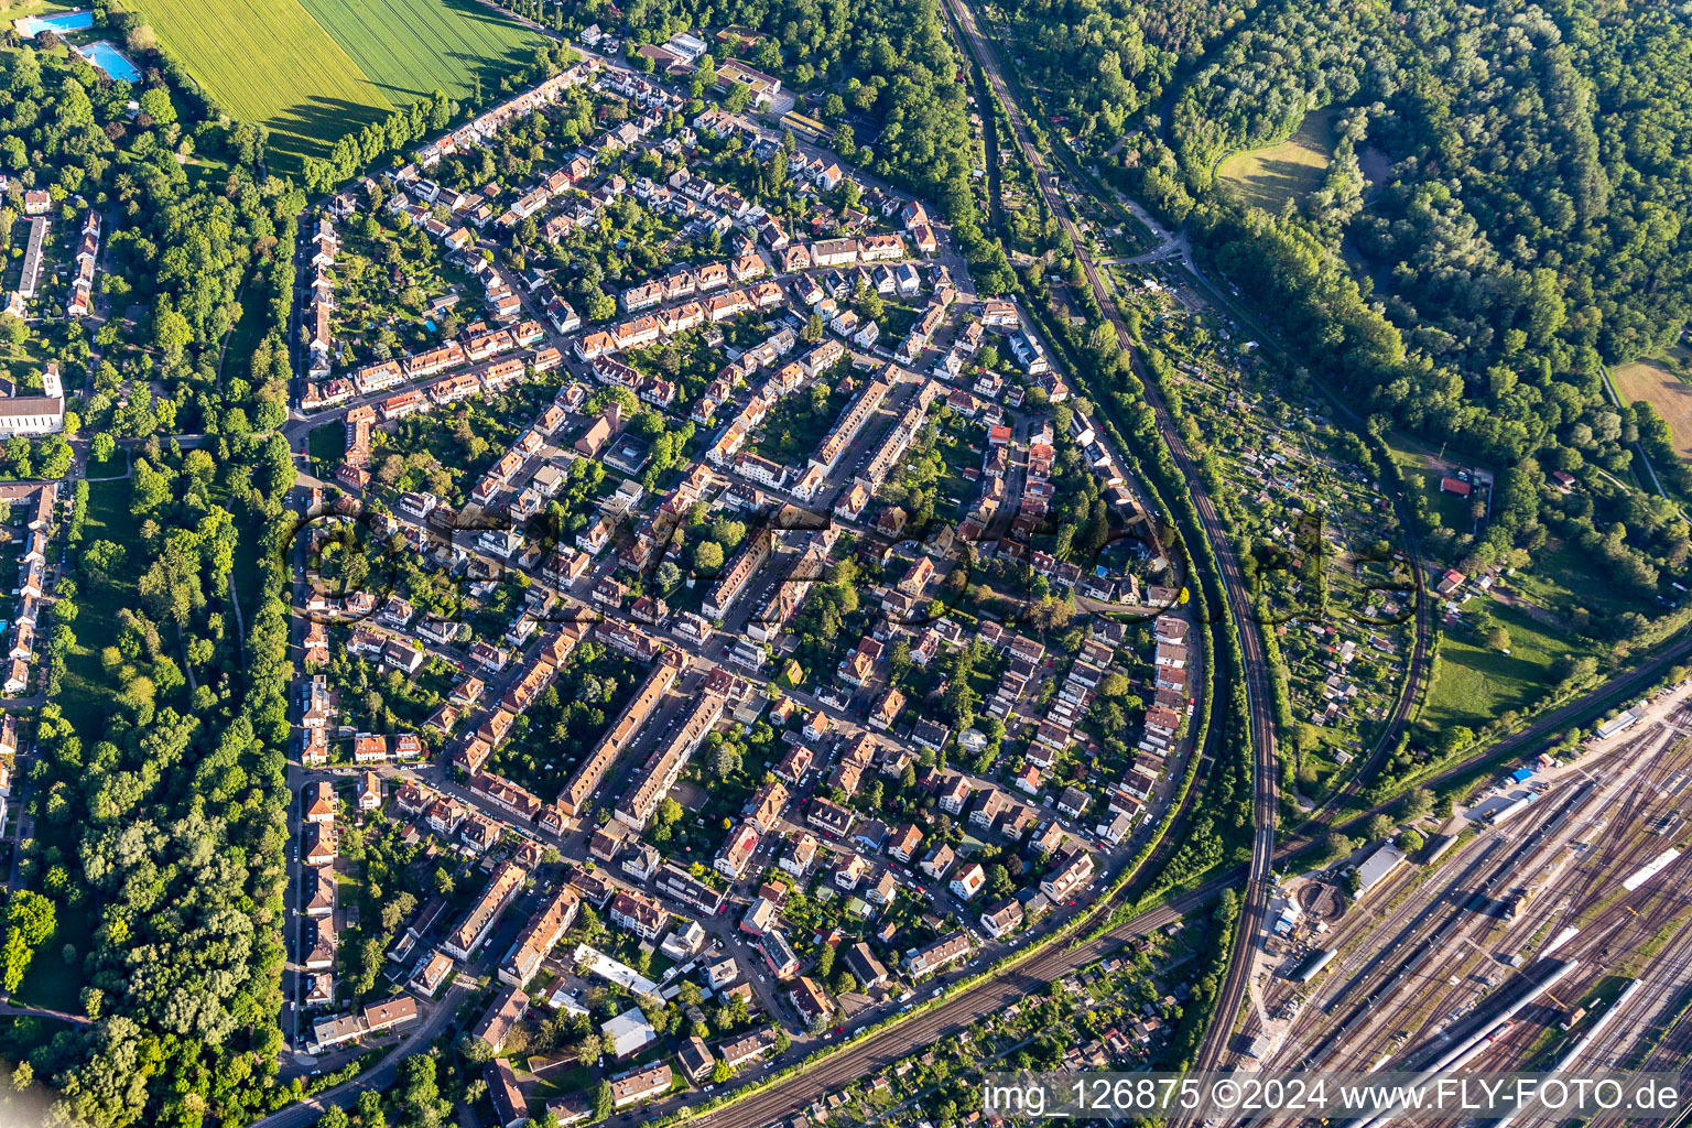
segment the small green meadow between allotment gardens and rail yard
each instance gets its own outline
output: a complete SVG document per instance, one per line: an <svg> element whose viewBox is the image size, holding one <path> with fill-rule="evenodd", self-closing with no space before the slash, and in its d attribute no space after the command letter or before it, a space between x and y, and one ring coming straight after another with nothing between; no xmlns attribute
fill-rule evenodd
<svg viewBox="0 0 1692 1128"><path fill-rule="evenodd" d="M1479 729L1499 714L1536 702L1555 682L1552 665L1574 648L1528 616L1491 602L1492 617L1509 631L1511 653L1475 646L1462 631L1445 636L1423 722Z"/></svg>

